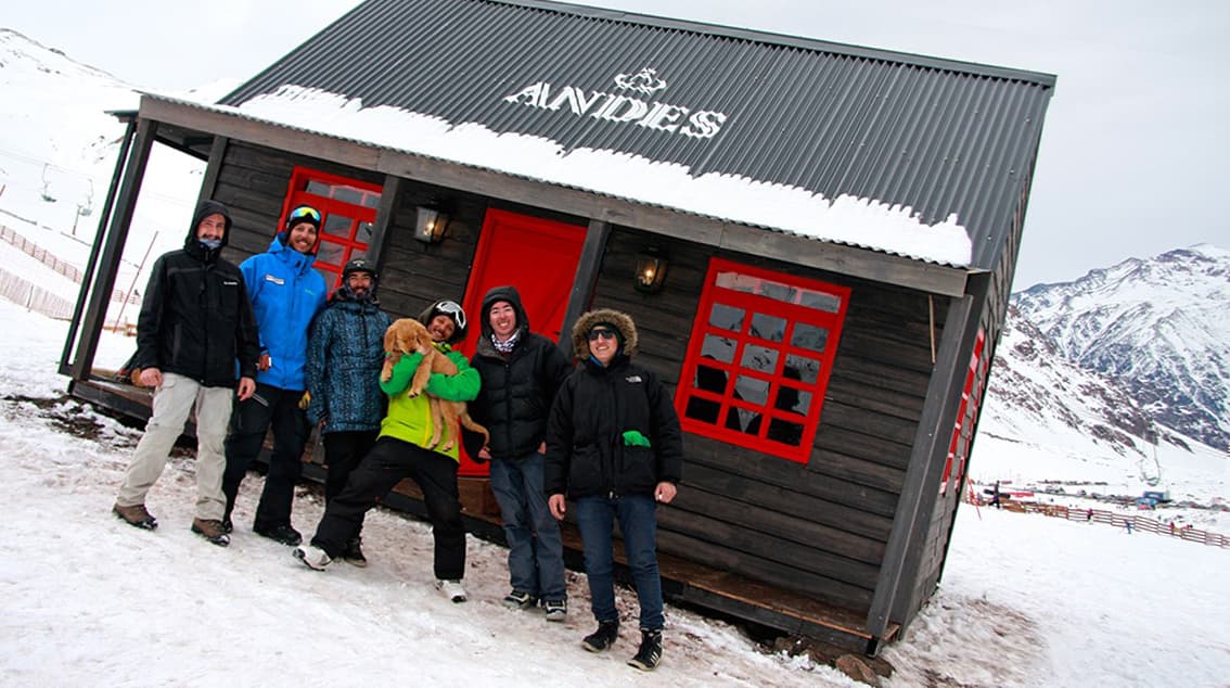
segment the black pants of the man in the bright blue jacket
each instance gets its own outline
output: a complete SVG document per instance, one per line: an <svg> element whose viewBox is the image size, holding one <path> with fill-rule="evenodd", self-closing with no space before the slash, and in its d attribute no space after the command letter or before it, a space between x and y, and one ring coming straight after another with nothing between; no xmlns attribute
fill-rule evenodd
<svg viewBox="0 0 1230 688"><path fill-rule="evenodd" d="M295 482L304 469L304 444L311 433L311 423L299 409L303 395L303 390L257 384L256 394L235 407L231 434L226 439L226 473L223 476L226 518L235 510L239 485L261 453L264 433L272 425L273 454L269 457L269 471L264 476L264 490L256 506L252 527L256 530L269 530L278 526L290 526Z"/></svg>

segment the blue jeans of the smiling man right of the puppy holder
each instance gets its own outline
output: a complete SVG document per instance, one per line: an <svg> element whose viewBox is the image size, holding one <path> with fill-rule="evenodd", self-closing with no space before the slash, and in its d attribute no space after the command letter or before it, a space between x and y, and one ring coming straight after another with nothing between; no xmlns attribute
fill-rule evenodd
<svg viewBox="0 0 1230 688"><path fill-rule="evenodd" d="M491 462L491 491L508 540L508 577L514 590L542 599L566 599L563 540L542 494L542 454Z"/></svg>

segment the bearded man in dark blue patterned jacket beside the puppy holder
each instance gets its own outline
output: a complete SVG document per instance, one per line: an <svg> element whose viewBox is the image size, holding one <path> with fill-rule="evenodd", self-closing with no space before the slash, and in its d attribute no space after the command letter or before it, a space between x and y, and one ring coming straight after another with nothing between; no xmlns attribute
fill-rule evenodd
<svg viewBox="0 0 1230 688"><path fill-rule="evenodd" d="M320 425L325 443L325 501L346 487L354 466L380 434L384 393L384 334L389 315L380 310L376 286L380 276L367 258L353 258L342 270L342 286L316 316L308 337L308 420ZM359 517L362 522L362 516ZM360 526L362 529L362 526ZM367 566L362 539L355 532L342 559Z"/></svg>

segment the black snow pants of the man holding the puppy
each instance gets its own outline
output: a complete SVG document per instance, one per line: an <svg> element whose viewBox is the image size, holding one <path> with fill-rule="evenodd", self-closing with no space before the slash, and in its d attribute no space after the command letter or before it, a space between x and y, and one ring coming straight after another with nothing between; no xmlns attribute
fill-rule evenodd
<svg viewBox="0 0 1230 688"><path fill-rule="evenodd" d="M363 524L363 514L376 506L403 478L423 492L427 518L435 539L435 577L460 581L465 576L465 526L458 492L458 462L416 444L381 437L351 471L342 492L325 505L325 516L311 544L331 558L344 551L347 540Z"/></svg>

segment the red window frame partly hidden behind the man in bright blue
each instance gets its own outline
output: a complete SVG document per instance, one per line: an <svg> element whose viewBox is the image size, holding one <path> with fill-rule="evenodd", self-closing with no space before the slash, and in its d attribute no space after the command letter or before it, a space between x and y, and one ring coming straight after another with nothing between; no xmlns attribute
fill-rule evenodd
<svg viewBox="0 0 1230 688"><path fill-rule="evenodd" d="M310 167L295 166L292 170L290 187L282 206L278 228L280 230L282 226L285 226L290 210L299 206L311 206L320 210L320 244L316 247L316 262L312 267L323 274L325 283L328 284L330 290L341 286L342 268L346 267L347 261L354 256L367 255L370 246L367 241L359 239L359 230L363 225L371 226L375 224L376 208L380 206L380 193L383 191L379 185L341 175L331 175ZM353 203L339 198L339 194L358 194L362 203ZM343 218L349 220L348 225L344 223L338 225L338 222ZM339 247L341 252L326 250L326 255L321 256L320 250L325 249L326 244L330 247ZM339 256L339 260L328 260L333 255Z"/></svg>

